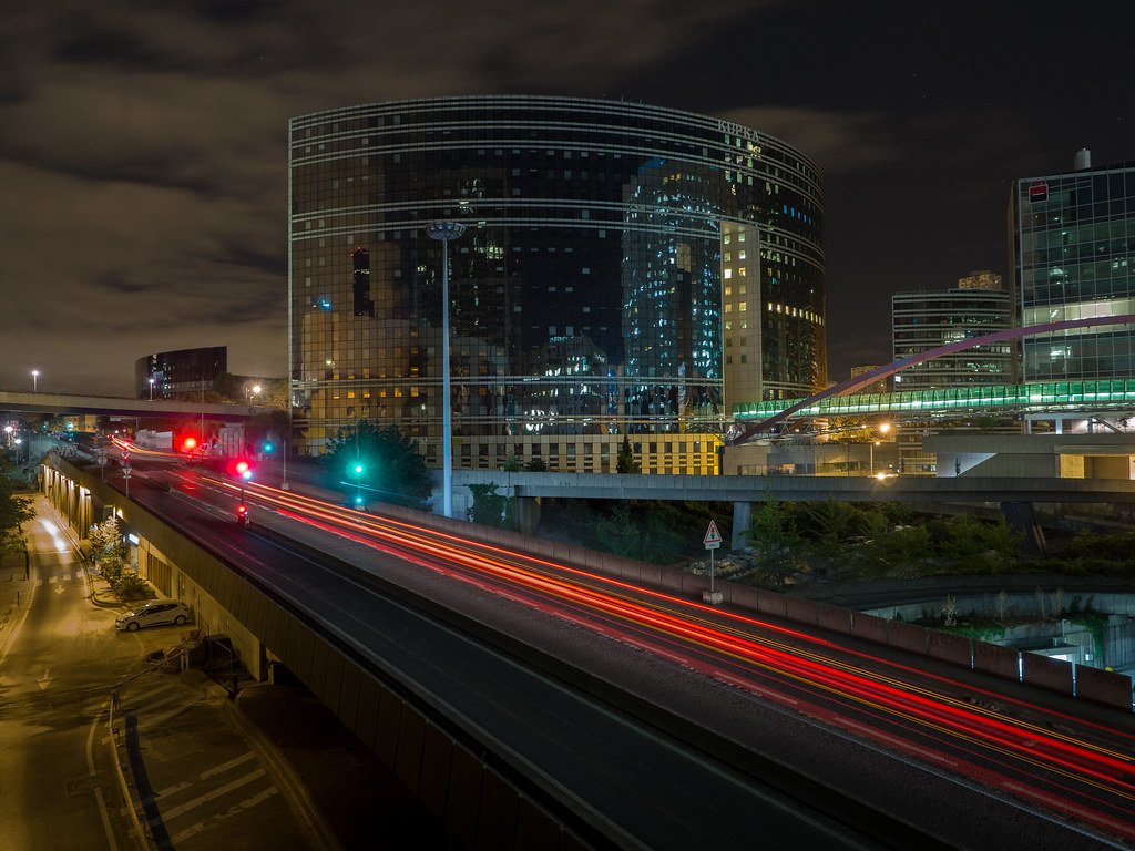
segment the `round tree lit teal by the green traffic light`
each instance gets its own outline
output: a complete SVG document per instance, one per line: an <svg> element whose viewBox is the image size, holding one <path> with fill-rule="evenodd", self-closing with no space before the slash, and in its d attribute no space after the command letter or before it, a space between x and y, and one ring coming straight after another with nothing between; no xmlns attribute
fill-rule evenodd
<svg viewBox="0 0 1135 851"><path fill-rule="evenodd" d="M381 427L360 420L343 430L320 458L333 487L364 498L409 507L420 506L430 495L429 471L418 452L418 441L397 426ZM362 467L360 473L355 466Z"/></svg>

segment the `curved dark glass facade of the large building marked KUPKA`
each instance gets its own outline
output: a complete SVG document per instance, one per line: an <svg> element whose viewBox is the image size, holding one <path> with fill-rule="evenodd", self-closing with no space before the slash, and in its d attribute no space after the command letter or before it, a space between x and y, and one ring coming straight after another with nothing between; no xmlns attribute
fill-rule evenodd
<svg viewBox="0 0 1135 851"><path fill-rule="evenodd" d="M765 134L619 101L443 98L294 118L288 163L311 450L360 418L440 436L438 220L468 228L448 243L459 444L720 433L734 404L826 384L821 178Z"/></svg>

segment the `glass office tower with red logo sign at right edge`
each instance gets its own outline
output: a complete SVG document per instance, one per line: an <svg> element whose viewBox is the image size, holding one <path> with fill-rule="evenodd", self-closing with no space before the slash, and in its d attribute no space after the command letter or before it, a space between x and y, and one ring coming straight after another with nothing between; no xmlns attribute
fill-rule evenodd
<svg viewBox="0 0 1135 851"><path fill-rule="evenodd" d="M1135 313L1135 163L1017 180L1009 199L1020 321ZM1022 339L1032 381L1135 377L1135 328L1096 326Z"/></svg>

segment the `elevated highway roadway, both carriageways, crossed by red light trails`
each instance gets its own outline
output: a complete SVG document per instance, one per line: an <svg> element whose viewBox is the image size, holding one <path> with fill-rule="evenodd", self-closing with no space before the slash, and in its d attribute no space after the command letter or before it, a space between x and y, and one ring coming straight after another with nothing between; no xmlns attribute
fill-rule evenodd
<svg viewBox="0 0 1135 851"><path fill-rule="evenodd" d="M390 615L384 609L381 618L376 616L380 595L359 593L360 582L362 587L367 582L365 578L360 580L358 571L312 564L280 568L281 557L269 558L261 549L268 541L252 546L258 541L255 532L242 536L228 522L236 496L232 482L187 472L153 475L174 481L174 491L135 489L140 502L152 499L157 511L188 524L195 534L212 539L217 546L224 541L233 556L244 559L246 570L262 571L263 581L311 605L320 601L331 622L344 618L336 612L351 613L340 624L344 640L384 647L382 635L367 633L376 621L389 623ZM842 647L764 620L586 576L295 494L250 485L246 497L254 506L253 530L261 522L279 525L286 517L291 523L283 525L293 533L334 534L340 541L346 536L353 541L356 567L424 587L478 618L504 622L522 633L543 631L539 638L526 635L526 640L540 641L557 655L572 657L573 664L582 656L579 664L611 681L629 683L645 699L674 707L691 723L716 730L751 752L790 762L901 821L919 824L949 846L1024 846L1018 844L1023 837L1029 837L1027 846L1037 850L1123 848L1135 841L1135 773L1129 756L1135 752L1135 738L1129 726L1053 714L1048 706L1015 697L1011 689L982 688L968 679L962 682L941 672L927 675L880 659L877 648L865 652ZM205 505L215 514L192 520ZM242 538L250 546L244 546ZM369 556L360 557L367 550ZM260 567L254 565L258 559L263 562ZM312 580L316 575L318 581ZM387 641L376 659L404 666L402 669L415 677L432 671L442 682L430 688L444 684L461 689L462 683L454 681L452 660L463 657L442 646L417 655L424 650L417 638L420 629L403 626L403 634L415 637L414 656L392 660L397 654ZM393 643L402 647L405 642ZM451 662L438 665L430 659ZM494 665L505 663L498 659ZM759 760L750 765L734 760L722 767L713 760L695 759L698 768L684 762L657 766L633 772L630 777L620 775L616 784L603 787L594 781L596 766L590 761L573 767L578 748L563 750L562 736L574 741L578 731L590 731L596 724L590 716L558 715L574 694L558 693L553 681L537 688L528 679L531 671L506 666L494 667L493 673L464 662L456 667L460 674L477 672L463 683L463 700L469 702L456 706L474 714L478 724L498 731L502 741L510 741L516 752L528 752L533 766L544 767L540 770L555 766L556 772L566 773L564 776L574 775L573 783L581 785L572 789L597 786L596 794L583 803L605 818L621 820L621 829L629 836L650 836L648 846L664 848L678 837L705 837L709 826L733 831L722 836L725 844L751 842L756 826L738 818L739 812L751 810L751 797L763 795L773 808L785 806L783 801L770 804L776 795L770 798L767 790L755 792L751 786L741 800L730 797L728 789L707 791L715 787L707 773L759 773L755 768ZM521 680L514 681L514 676ZM494 683L489 694L478 688L486 682ZM506 685L518 693L503 700L497 689ZM547 702L526 702L524 696L536 691ZM510 711L502 711L505 706ZM513 711L518 707L519 714ZM556 711L549 715L549 707ZM549 730L553 715L565 725L560 732ZM535 726L533 717L540 719ZM613 740L596 742L596 752L609 751L625 765L650 765L666 750L658 741L646 740L642 752L623 749L632 733L642 733L644 727L631 721L629 727L613 730ZM510 740L510 731L522 732L526 741ZM791 747L785 747L787 741ZM526 750L539 742L543 750ZM667 744L681 748L680 743ZM667 819L657 811L666 791L653 783L667 775L681 777L670 791L678 795L675 802L689 802L691 790L698 792L697 808L689 803L676 807L688 810L678 819L681 824L674 823L673 812ZM726 786L733 783L735 777ZM748 803L745 797L750 798ZM611 803L612 798L617 798L617 807ZM823 821L815 816L806 820ZM732 827L718 827L723 824ZM788 829L797 835L799 828L792 825ZM831 839L826 846L833 846Z"/></svg>

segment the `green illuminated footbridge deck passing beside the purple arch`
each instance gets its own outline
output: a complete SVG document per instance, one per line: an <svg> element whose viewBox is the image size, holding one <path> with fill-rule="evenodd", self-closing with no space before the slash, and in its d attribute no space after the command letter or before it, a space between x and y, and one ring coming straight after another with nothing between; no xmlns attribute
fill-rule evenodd
<svg viewBox="0 0 1135 851"><path fill-rule="evenodd" d="M733 407L739 420L775 416L804 399L751 402ZM1031 385L978 385L944 390L905 390L829 396L802 407L793 416L852 416L861 414L923 414L925 419L958 413L1014 411L1019 413L1078 413L1135 407L1135 379L1109 381L1052 381Z"/></svg>

